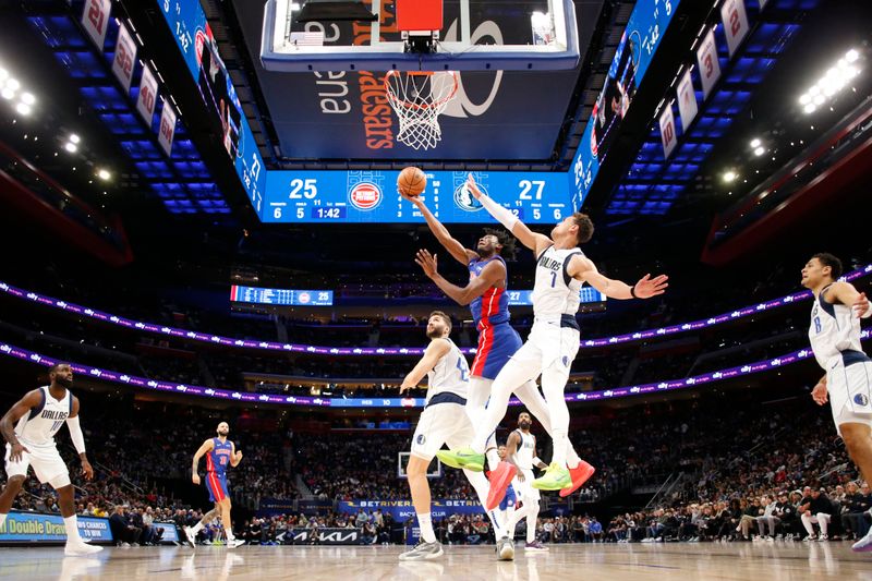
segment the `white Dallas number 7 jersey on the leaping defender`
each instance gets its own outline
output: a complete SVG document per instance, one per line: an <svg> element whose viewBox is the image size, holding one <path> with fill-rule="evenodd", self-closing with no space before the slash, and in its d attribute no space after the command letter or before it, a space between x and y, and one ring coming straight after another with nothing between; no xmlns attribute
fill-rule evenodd
<svg viewBox="0 0 872 581"><path fill-rule="evenodd" d="M560 315L574 315L581 303L581 280L567 273L569 258L579 249L548 246L536 262L536 280L533 285L533 314L540 318L554 318Z"/></svg>

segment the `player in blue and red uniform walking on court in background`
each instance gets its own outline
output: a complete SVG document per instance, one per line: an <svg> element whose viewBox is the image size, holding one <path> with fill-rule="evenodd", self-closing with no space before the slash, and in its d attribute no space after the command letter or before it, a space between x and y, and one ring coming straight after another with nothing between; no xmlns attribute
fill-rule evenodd
<svg viewBox="0 0 872 581"><path fill-rule="evenodd" d="M221 524L225 525L227 533L228 548L235 548L242 544L233 535L233 526L230 522L230 491L227 487L227 467L237 467L242 461L242 452L237 451L232 441L227 439L230 433L230 425L227 422L218 424L218 437L209 438L194 455L194 462L191 467L191 481L199 484L197 467L199 459L206 456L206 489L209 491L209 500L215 503L215 508L206 512L196 525L185 526L184 534L191 546L196 546L194 540L197 533L216 517L221 517Z"/></svg>

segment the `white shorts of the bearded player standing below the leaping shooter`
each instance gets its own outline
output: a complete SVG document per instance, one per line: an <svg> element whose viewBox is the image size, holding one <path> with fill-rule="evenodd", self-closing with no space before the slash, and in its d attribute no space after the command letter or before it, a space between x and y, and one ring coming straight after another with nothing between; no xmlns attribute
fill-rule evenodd
<svg viewBox="0 0 872 581"><path fill-rule="evenodd" d="M445 402L427 406L421 412L410 452L422 460L433 460L444 444L452 450L469 446L475 437L465 406Z"/></svg>

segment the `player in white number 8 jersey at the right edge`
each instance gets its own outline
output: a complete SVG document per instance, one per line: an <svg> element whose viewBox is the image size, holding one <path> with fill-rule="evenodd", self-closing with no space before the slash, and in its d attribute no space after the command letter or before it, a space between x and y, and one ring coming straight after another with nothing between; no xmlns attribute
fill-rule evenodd
<svg viewBox="0 0 872 581"><path fill-rule="evenodd" d="M860 319L872 316L863 292L838 280L841 261L820 253L806 263L802 286L811 290L809 339L825 375L811 395L819 404L827 399L845 447L867 482L872 482L872 362L860 344ZM872 531L853 550L872 550Z"/></svg>

